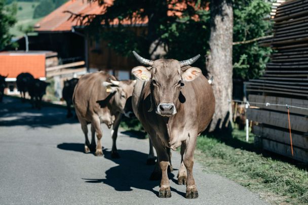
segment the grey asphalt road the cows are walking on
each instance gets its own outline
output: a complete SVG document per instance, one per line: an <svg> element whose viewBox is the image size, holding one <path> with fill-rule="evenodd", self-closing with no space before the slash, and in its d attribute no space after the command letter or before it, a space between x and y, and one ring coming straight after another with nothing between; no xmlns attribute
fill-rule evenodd
<svg viewBox="0 0 308 205"><path fill-rule="evenodd" d="M19 99L0 103L0 204L266 204L256 194L198 163L198 199L186 199L177 185L180 165L173 152L171 198L159 198L159 181L149 181L148 141L119 133L120 159L111 159L110 130L103 127L104 156L85 154L78 121L66 110L34 110ZM90 129L89 129L90 130Z"/></svg>

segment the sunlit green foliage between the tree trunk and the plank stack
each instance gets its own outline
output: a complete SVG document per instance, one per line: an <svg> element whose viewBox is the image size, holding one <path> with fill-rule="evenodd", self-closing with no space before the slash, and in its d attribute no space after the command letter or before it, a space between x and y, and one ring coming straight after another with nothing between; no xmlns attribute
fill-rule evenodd
<svg viewBox="0 0 308 205"><path fill-rule="evenodd" d="M264 18L270 11L270 3L264 0L234 1L234 42L266 35L271 22ZM259 77L270 59L271 49L260 47L258 42L235 45L233 49L234 78Z"/></svg>

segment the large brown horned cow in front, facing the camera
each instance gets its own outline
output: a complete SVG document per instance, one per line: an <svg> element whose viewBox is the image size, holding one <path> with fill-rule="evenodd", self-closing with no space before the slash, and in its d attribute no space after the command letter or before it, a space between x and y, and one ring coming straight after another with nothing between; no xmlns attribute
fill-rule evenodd
<svg viewBox="0 0 308 205"><path fill-rule="evenodd" d="M150 61L133 53L140 63L149 66L132 69L132 74L139 79L132 104L158 154L159 167L154 172L162 172L159 197L171 197L168 152L170 148L175 150L181 146L178 183L186 183L186 198L197 198L193 177L194 151L197 136L207 128L214 113L212 79L208 81L199 68L187 66L200 55L185 61Z"/></svg>

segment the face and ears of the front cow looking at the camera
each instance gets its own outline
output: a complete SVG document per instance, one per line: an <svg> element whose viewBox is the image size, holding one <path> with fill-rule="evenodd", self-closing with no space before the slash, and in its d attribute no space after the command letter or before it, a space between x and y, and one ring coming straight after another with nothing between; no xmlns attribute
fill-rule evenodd
<svg viewBox="0 0 308 205"><path fill-rule="evenodd" d="M151 67L133 68L132 74L149 81L152 109L159 115L171 116L177 112L181 87L185 86L185 82L196 79L201 70L197 67L181 67L181 62L177 60L159 59L153 61Z"/></svg>

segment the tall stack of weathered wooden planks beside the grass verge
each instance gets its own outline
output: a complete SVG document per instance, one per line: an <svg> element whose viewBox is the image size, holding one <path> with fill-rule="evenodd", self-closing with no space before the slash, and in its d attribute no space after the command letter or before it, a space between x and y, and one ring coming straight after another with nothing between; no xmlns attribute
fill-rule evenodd
<svg viewBox="0 0 308 205"><path fill-rule="evenodd" d="M253 132L260 136L257 139L264 149L308 163L308 110L289 109L292 156L287 106L260 104L308 108L308 0L282 3L273 21L273 38L262 44L270 45L275 52L264 75L246 83L250 104L259 107L249 109L247 117L259 122Z"/></svg>

